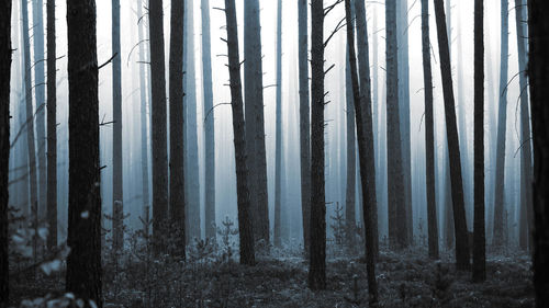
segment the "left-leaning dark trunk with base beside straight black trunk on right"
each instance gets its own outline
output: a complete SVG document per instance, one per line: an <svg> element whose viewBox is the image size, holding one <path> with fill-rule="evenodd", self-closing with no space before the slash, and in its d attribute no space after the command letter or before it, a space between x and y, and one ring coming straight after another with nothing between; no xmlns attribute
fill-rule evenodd
<svg viewBox="0 0 549 308"><path fill-rule="evenodd" d="M451 81L450 52L446 30L445 9L442 0L435 0L438 46L440 53L440 73L446 114L446 134L450 161L451 197L453 206L453 228L456 235L456 263L459 270L466 270L470 264L470 252L467 232L466 209L463 205L463 181L461 179L461 159L459 155L458 128L456 125L456 103Z"/></svg>

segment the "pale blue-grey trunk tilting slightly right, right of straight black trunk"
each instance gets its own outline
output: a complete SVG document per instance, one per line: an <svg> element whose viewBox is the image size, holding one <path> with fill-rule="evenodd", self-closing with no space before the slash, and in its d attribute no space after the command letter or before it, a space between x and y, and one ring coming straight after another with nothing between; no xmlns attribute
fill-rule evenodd
<svg viewBox="0 0 549 308"><path fill-rule="evenodd" d="M497 116L497 152L495 162L494 237L493 246L504 242L505 135L507 130L507 73L508 73L508 2L502 0L502 33L500 60L500 110Z"/></svg>

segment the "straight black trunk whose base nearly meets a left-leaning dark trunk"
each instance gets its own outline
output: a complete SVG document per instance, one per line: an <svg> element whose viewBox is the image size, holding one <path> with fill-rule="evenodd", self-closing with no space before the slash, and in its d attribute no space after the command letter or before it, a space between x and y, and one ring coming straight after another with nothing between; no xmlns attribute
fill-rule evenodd
<svg viewBox="0 0 549 308"><path fill-rule="evenodd" d="M474 225L473 282L486 280L484 227L484 0L474 0Z"/></svg>

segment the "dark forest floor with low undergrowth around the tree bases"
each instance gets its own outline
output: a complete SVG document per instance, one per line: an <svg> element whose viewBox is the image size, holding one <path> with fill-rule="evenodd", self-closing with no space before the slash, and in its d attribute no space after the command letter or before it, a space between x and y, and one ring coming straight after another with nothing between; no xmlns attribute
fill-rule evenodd
<svg viewBox="0 0 549 308"><path fill-rule="evenodd" d="M216 256L204 248L189 253L192 261L187 263L143 261L135 253L123 262L105 256L104 307L368 307L363 258L346 256L345 250L328 251L327 289L322 292L307 288L307 262L296 249L270 248L258 253L255 266L226 261L231 250ZM481 284L473 284L469 272L456 272L451 259L444 252L440 261L430 261L419 248L399 253L382 249L379 306L534 307L528 255L489 254L488 280ZM14 280L13 305L45 294L63 296L63 277L59 272L41 274L32 284Z"/></svg>

